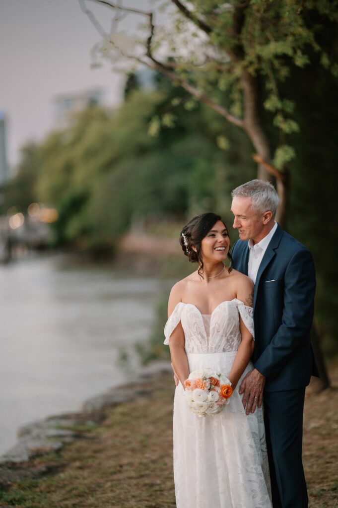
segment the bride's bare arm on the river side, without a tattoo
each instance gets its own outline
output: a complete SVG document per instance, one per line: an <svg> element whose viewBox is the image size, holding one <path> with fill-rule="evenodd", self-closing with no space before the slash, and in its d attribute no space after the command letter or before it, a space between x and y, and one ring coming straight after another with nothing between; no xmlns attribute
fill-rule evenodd
<svg viewBox="0 0 338 508"><path fill-rule="evenodd" d="M175 284L171 290L168 302L168 318L172 314L177 303L181 302L179 283ZM189 376L189 364L185 351L185 334L181 322L178 323L175 330L169 338L169 348L171 356L171 364L174 372L178 376L182 386Z"/></svg>

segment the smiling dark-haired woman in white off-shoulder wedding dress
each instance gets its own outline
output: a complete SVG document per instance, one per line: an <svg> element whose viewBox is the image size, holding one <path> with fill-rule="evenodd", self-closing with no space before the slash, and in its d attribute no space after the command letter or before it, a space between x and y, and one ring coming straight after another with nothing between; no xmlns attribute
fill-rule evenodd
<svg viewBox="0 0 338 508"><path fill-rule="evenodd" d="M271 508L263 408L246 415L238 393L253 368L253 283L231 268L229 236L219 215L194 217L182 229L180 244L198 269L172 288L164 330L179 379L173 420L176 506ZM225 374L233 393L219 414L199 418L188 408L183 386L190 372L207 367Z"/></svg>

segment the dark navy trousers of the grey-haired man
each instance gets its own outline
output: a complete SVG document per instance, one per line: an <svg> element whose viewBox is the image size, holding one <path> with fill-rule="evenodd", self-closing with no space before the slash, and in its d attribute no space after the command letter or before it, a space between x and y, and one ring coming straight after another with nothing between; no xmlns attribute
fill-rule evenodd
<svg viewBox="0 0 338 508"><path fill-rule="evenodd" d="M308 508L301 460L305 388L264 392L273 508Z"/></svg>

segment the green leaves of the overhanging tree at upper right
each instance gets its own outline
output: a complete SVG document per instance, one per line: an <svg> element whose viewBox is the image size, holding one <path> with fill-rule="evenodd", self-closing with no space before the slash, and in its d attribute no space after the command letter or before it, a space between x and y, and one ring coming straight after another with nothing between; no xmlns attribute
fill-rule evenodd
<svg viewBox="0 0 338 508"><path fill-rule="evenodd" d="M175 72L239 118L244 114L242 78L245 73L257 78L262 97L266 94L263 107L273 114L265 116L266 131L271 132L273 126L277 132L271 136L274 160L279 168L291 162L296 156L293 142L299 125L292 87L284 83L293 68L303 70L311 65L320 64L338 75L338 53L327 43L326 35L327 27L337 31L337 0L231 0L221 5L215 0L192 0L189 12L192 20L177 10L173 33L161 27L156 39L157 44L172 41L170 61L175 63ZM206 26L201 31L200 21ZM186 47L189 51L182 51ZM154 131L157 128L152 125ZM222 134L218 146L229 148Z"/></svg>

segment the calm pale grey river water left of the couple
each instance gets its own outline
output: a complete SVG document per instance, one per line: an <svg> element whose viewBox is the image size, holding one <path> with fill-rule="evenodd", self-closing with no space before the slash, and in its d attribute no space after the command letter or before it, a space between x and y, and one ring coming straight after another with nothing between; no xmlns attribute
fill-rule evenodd
<svg viewBox="0 0 338 508"><path fill-rule="evenodd" d="M0 455L17 428L128 380L121 350L146 341L160 282L64 258L0 266Z"/></svg>

